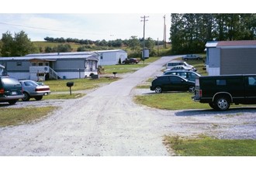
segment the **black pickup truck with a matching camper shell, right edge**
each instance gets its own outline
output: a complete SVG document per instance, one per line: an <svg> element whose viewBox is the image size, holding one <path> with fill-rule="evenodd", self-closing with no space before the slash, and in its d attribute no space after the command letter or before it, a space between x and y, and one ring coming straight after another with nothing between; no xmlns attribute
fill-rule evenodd
<svg viewBox="0 0 256 170"><path fill-rule="evenodd" d="M199 76L192 99L215 110L228 110L230 104L256 104L256 74Z"/></svg>

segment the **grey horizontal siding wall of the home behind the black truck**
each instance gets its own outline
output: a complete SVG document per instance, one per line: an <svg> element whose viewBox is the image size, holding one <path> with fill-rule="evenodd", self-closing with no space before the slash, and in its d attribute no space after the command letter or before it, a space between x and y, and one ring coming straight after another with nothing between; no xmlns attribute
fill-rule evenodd
<svg viewBox="0 0 256 170"><path fill-rule="evenodd" d="M220 74L256 73L256 49L221 49Z"/></svg>

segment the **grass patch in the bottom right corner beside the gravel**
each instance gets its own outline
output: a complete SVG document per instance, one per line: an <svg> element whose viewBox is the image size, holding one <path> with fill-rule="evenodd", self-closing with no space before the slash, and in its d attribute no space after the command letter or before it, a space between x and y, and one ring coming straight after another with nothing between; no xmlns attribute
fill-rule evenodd
<svg viewBox="0 0 256 170"><path fill-rule="evenodd" d="M164 144L179 156L256 156L256 140L165 136Z"/></svg>

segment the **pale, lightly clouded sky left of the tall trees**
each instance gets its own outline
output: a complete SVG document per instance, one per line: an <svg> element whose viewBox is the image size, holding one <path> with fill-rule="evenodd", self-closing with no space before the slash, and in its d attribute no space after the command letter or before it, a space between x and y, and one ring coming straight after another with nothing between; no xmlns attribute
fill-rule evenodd
<svg viewBox="0 0 256 170"><path fill-rule="evenodd" d="M131 36L164 39L164 15L167 39L170 35L171 13L0 13L2 33L24 31L31 41L45 37L91 40L130 39Z"/></svg>

